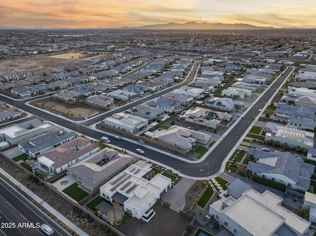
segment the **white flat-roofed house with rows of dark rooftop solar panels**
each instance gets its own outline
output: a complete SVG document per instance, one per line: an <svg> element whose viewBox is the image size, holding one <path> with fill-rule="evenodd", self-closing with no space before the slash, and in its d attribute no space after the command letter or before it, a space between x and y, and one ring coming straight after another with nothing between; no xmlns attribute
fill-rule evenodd
<svg viewBox="0 0 316 236"><path fill-rule="evenodd" d="M100 196L124 205L132 217L149 222L156 212L153 205L171 187L171 179L161 174L151 180L151 164L138 161L100 187Z"/></svg>

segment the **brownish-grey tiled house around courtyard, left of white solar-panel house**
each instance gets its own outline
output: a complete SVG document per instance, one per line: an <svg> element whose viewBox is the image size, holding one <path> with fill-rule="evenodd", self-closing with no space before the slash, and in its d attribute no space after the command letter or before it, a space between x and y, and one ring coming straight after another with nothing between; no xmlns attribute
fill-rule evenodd
<svg viewBox="0 0 316 236"><path fill-rule="evenodd" d="M135 160L128 154L105 148L68 168L68 172L77 176L81 187L93 192L132 165Z"/></svg>

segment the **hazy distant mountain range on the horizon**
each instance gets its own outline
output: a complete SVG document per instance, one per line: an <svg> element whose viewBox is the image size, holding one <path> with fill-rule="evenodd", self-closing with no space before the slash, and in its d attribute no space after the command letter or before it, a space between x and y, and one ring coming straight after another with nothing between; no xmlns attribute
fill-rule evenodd
<svg viewBox="0 0 316 236"><path fill-rule="evenodd" d="M184 24L167 23L159 25L120 27L119 29L141 29L141 30L271 30L273 27L260 27L249 24L223 24L223 23L197 23L187 22Z"/></svg>

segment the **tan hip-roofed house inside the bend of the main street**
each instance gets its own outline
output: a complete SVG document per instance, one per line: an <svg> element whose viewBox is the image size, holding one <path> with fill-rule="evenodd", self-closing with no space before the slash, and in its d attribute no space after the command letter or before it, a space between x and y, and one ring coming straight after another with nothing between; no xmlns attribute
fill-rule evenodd
<svg viewBox="0 0 316 236"><path fill-rule="evenodd" d="M186 152L189 152L196 145L196 142L206 145L211 139L211 135L176 125L171 126L168 130L163 131L156 137L158 138L158 142L179 148Z"/></svg>

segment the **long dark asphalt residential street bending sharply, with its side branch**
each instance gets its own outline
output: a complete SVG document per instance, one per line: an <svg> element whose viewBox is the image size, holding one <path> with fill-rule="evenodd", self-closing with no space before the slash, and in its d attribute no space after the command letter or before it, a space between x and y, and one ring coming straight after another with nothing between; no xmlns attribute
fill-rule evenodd
<svg viewBox="0 0 316 236"><path fill-rule="evenodd" d="M189 75L188 80L186 81L187 83L194 79L194 73L196 69L197 69L197 64L195 65L195 67L193 67L193 71ZM183 175L187 175L191 177L199 177L199 178L207 177L208 175L213 175L220 170L221 164L226 158L226 156L233 149L233 147L235 146L240 136L243 135L244 132L247 130L247 128L253 121L253 117L258 115L258 110L266 105L267 101L270 100L272 95L276 92L280 84L284 81L284 79L286 79L287 75L290 72L291 72L291 67L286 70L284 75L281 75L276 80L273 86L270 86L266 90L266 93L259 100L256 101L255 106L252 107L251 109L248 109L247 114L244 115L244 118L238 123L238 125L236 125L231 130L231 132L228 135L226 135L226 137L221 141L221 143L218 144L215 147L215 149L204 159L204 161L200 163L187 163L182 160L175 159L168 155L162 154L158 151L146 148L146 146L140 146L124 138L122 140L110 138L111 144L120 146L123 149L132 151L132 152L135 152L136 148L141 148L145 151L145 154L144 154L145 157L151 159L153 162L158 162L163 165L166 165L167 167L170 167ZM183 86L183 84L179 84L177 87L180 87L180 86ZM150 98L144 98L143 100L133 102L132 104L130 104L130 107L135 106L137 104L141 104L145 100L156 98L174 89L175 89L174 87L169 88L166 91L162 91L162 92L154 94ZM30 113L33 113L34 115L39 116L40 118L54 122L56 124L59 124L63 127L66 127L80 134L84 134L86 136L90 136L96 139L99 139L102 136L104 136L104 134L98 131L89 129L88 126L92 125L93 123L97 123L103 120L105 116L96 117L94 119L83 122L81 124L76 124L68 120L64 120L55 115L51 115L50 113L47 113L44 110L38 110L33 107L30 107L24 104L25 101L13 101L8 98L4 98L1 95L0 95L0 100L7 101L7 103L9 104L15 105L16 107L21 108ZM106 116L111 116L113 113L117 113L126 109L127 107L122 107L122 108L119 108L118 110L110 111L106 114ZM209 170L208 170L207 164L209 164Z"/></svg>

